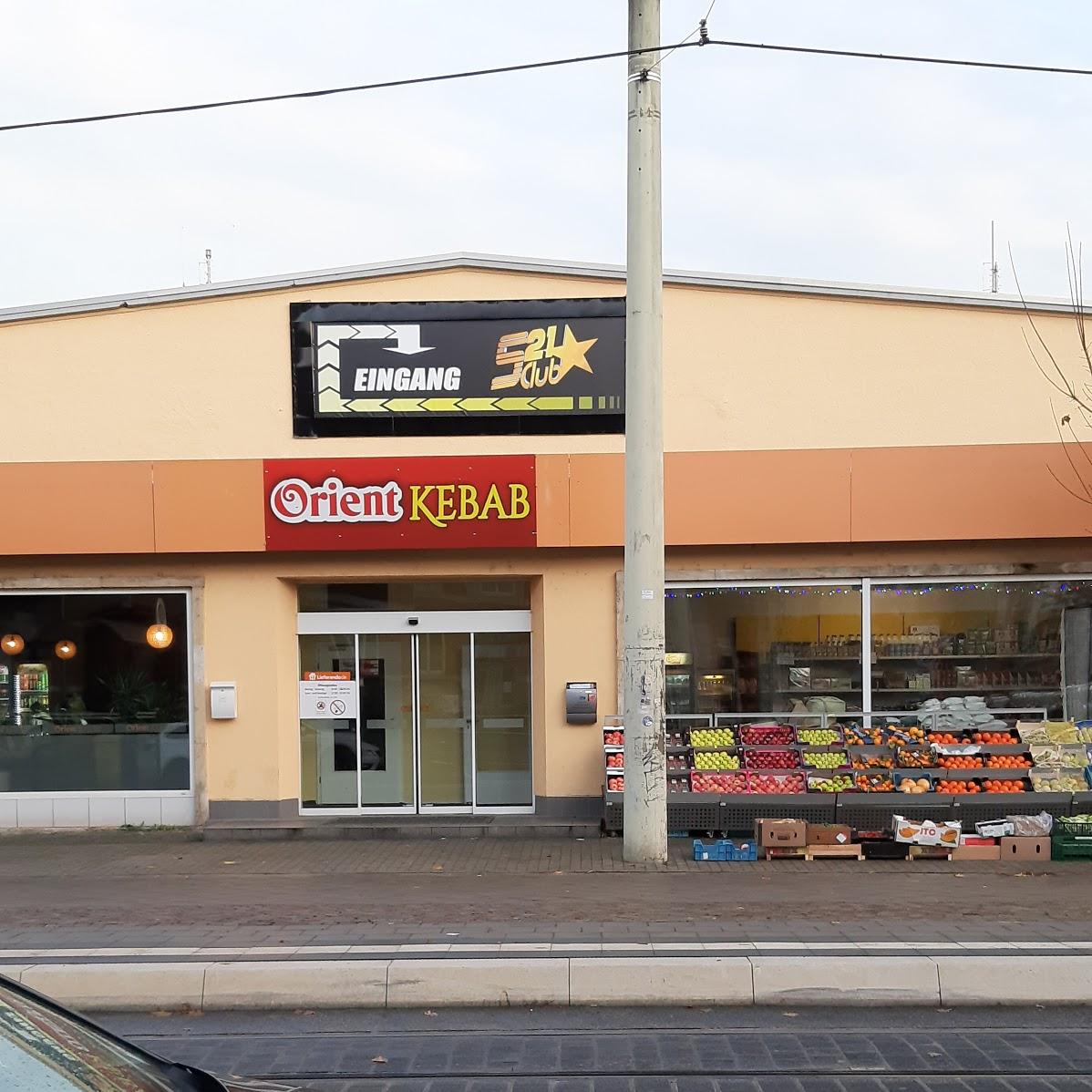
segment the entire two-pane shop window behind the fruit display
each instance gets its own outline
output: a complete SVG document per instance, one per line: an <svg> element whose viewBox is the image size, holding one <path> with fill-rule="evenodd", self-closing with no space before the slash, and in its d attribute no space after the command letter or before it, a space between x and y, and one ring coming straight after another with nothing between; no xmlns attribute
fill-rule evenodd
<svg viewBox="0 0 1092 1092"><path fill-rule="evenodd" d="M914 712L970 698L980 715L1092 717L1092 581L863 584L868 619L854 583L668 587L668 713Z"/></svg>

